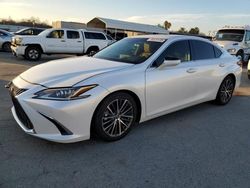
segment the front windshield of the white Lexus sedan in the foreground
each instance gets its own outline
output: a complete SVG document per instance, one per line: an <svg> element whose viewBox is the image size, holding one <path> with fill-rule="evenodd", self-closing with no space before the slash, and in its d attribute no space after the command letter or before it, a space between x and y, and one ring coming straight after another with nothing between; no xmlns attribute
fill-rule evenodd
<svg viewBox="0 0 250 188"><path fill-rule="evenodd" d="M158 38L125 38L98 52L94 57L139 64L153 55L165 41L166 39Z"/></svg>

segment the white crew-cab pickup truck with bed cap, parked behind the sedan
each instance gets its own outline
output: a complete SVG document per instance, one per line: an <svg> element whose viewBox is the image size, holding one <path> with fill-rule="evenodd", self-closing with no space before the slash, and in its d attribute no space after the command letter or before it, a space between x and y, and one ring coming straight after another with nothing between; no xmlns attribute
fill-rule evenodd
<svg viewBox="0 0 250 188"><path fill-rule="evenodd" d="M98 31L47 29L37 36L13 37L11 50L15 56L37 61L42 54L91 54L113 42L113 38Z"/></svg>

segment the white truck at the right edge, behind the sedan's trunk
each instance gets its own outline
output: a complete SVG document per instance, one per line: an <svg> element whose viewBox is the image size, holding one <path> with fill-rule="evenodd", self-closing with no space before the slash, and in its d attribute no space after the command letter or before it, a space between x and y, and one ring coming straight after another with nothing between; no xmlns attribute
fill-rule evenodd
<svg viewBox="0 0 250 188"><path fill-rule="evenodd" d="M214 42L231 55L241 56L242 60L247 62L250 54L250 26L220 29Z"/></svg>

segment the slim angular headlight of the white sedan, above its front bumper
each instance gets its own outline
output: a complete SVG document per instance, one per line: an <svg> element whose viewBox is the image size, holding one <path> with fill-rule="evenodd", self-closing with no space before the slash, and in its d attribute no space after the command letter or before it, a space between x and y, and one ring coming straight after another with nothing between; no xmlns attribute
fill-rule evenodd
<svg viewBox="0 0 250 188"><path fill-rule="evenodd" d="M82 87L71 87L71 88L51 88L45 89L35 93L33 98L36 99L47 99L47 100L75 100L87 98L90 95L83 95L87 91L95 88L97 85L89 85Z"/></svg>

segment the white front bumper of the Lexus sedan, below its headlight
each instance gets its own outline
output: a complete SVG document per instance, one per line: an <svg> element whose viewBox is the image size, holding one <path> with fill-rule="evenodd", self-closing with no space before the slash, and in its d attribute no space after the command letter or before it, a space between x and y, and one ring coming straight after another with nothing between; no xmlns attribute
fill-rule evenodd
<svg viewBox="0 0 250 188"><path fill-rule="evenodd" d="M16 96L10 92L14 104L12 114L18 125L29 135L59 143L89 139L94 111L102 100L101 97L107 95L105 89L96 87L91 91L91 96L85 99L40 100L32 97L44 87L27 83L20 77L13 80L13 84L17 88L26 89ZM20 107L16 103L20 104Z"/></svg>

